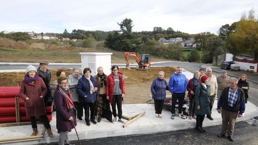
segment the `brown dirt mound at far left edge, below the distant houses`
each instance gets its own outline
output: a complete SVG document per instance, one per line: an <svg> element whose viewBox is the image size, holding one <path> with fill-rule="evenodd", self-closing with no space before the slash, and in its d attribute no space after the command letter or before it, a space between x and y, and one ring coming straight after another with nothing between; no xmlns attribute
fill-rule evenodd
<svg viewBox="0 0 258 145"><path fill-rule="evenodd" d="M16 42L7 38L0 38L0 47L11 49L31 49L30 45L26 42Z"/></svg>

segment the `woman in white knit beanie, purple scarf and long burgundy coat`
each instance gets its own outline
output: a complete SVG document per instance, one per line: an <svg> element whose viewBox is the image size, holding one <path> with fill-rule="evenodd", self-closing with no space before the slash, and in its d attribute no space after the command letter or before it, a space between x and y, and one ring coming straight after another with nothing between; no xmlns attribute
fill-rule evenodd
<svg viewBox="0 0 258 145"><path fill-rule="evenodd" d="M29 65L26 69L24 79L21 82L19 95L24 100L26 116L30 117L33 129L31 136L38 134L36 117L42 118L48 136L53 136L44 103L46 93L47 88L43 79L38 77L35 66Z"/></svg>

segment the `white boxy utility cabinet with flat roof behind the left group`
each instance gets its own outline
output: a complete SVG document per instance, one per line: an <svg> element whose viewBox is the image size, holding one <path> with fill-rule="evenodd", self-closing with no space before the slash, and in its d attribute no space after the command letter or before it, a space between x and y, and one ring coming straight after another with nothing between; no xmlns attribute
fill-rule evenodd
<svg viewBox="0 0 258 145"><path fill-rule="evenodd" d="M100 53L100 52L81 52L82 59L82 72L88 67L91 69L91 75L96 75L97 68L99 66L103 67L103 72L106 75L111 73L111 55L113 53Z"/></svg>

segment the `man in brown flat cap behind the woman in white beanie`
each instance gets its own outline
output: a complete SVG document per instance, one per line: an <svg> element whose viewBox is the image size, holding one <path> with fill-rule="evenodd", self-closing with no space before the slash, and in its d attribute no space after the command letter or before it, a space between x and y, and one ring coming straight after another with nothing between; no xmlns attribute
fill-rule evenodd
<svg viewBox="0 0 258 145"><path fill-rule="evenodd" d="M51 90L50 90L51 71L47 69L47 66L48 66L48 61L40 60L39 67L37 69L38 76L43 79L45 86L47 87L47 93L46 93L46 96L44 97L45 108L47 107L47 100L51 96Z"/></svg>

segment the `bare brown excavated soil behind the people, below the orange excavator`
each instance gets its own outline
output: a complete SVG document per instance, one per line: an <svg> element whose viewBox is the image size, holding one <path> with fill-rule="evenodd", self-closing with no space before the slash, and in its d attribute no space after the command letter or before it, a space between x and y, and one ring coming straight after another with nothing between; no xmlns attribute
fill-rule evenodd
<svg viewBox="0 0 258 145"><path fill-rule="evenodd" d="M56 79L57 69L51 70L51 81L52 84ZM71 69L65 69L65 74L68 76L72 74ZM131 68L127 70L120 68L119 70L124 74L125 81L125 98L124 104L138 104L144 103L146 100L151 99L150 86L151 82L157 78L157 73L159 71L165 72L165 78L169 78L174 74L175 69L173 67L152 67L148 71L137 70ZM25 72L10 72L10 73L0 73L0 86L20 86L21 81L24 78ZM168 79L167 83L168 83ZM167 95L168 95L167 91Z"/></svg>

